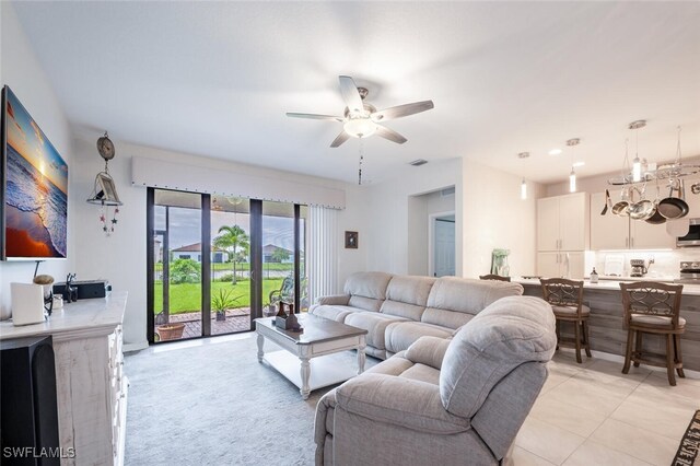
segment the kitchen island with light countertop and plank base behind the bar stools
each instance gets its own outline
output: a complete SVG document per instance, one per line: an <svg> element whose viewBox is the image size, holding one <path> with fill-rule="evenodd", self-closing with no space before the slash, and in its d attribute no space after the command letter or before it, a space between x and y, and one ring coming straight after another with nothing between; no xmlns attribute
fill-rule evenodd
<svg viewBox="0 0 700 466"><path fill-rule="evenodd" d="M513 279L525 289L525 295L542 296L542 289L537 279ZM622 327L622 293L620 282L604 280L597 283L584 281L583 303L591 307L588 330L591 349L617 354L625 358L627 330ZM685 369L700 371L700 286L684 284L680 301L680 315L686 319L686 331L680 338L682 365ZM568 327L562 326L567 335ZM644 349L664 353L665 340L656 335L644 335ZM622 370L622 364L620 364Z"/></svg>

